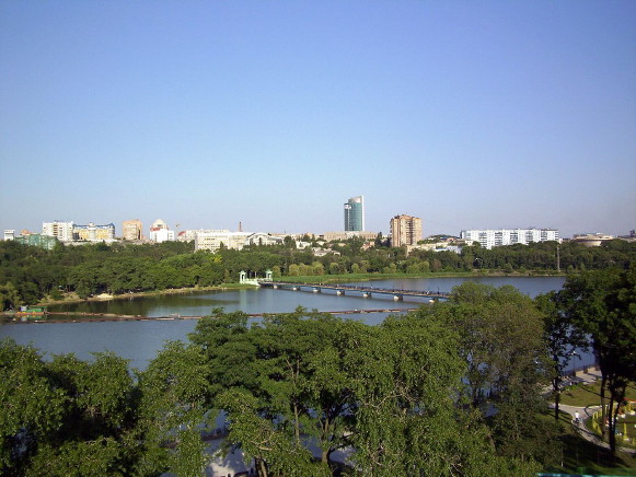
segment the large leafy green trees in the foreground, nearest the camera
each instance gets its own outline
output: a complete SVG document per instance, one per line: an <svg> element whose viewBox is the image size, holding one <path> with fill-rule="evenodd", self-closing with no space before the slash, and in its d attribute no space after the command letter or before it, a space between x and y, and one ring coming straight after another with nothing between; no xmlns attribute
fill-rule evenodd
<svg viewBox="0 0 636 477"><path fill-rule="evenodd" d="M558 393L562 357L590 346L622 400L636 379L634 290L633 267L568 277L535 300L466 282L378 326L303 309L258 322L213 310L143 371L111 353L45 360L4 341L0 473L198 476L201 431L219 409L224 452L240 449L261 477L556 469L564 431L542 389L552 381Z"/></svg>

